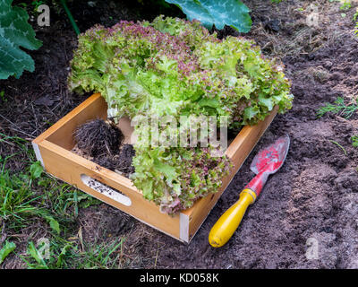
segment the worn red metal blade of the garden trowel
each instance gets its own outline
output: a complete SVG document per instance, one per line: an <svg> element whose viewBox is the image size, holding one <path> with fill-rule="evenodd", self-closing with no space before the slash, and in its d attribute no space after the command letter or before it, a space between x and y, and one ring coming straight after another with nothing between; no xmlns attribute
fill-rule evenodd
<svg viewBox="0 0 358 287"><path fill-rule="evenodd" d="M268 172L268 174L275 173L286 160L289 146L290 138L288 135L278 138L275 143L268 145L256 154L250 169L256 174L262 171Z"/></svg>

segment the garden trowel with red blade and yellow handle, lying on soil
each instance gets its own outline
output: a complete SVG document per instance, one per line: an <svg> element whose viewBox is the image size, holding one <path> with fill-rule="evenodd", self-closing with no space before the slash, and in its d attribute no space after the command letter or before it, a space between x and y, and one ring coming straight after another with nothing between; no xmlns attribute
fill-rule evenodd
<svg viewBox="0 0 358 287"><path fill-rule="evenodd" d="M209 243L211 246L220 248L232 237L242 221L247 207L253 204L256 197L260 195L268 176L277 172L286 160L289 145L290 138L285 135L256 154L250 166L256 176L243 188L239 200L221 215L210 230Z"/></svg>

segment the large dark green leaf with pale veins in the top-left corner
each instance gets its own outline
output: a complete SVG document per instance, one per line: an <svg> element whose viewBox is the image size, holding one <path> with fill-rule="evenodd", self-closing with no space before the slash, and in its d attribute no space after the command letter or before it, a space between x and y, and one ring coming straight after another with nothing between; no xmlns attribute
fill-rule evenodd
<svg viewBox="0 0 358 287"><path fill-rule="evenodd" d="M33 72L34 61L21 48L34 50L42 45L28 23L28 13L12 3L0 0L0 80L11 75L19 78L24 70Z"/></svg>

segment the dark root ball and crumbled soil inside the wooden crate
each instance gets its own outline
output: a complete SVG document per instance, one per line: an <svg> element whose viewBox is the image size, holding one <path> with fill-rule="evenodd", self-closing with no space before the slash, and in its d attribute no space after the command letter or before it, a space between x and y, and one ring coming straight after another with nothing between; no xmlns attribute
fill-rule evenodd
<svg viewBox="0 0 358 287"><path fill-rule="evenodd" d="M123 144L124 135L115 123L101 118L78 126L73 133L76 145L72 152L98 165L129 177L134 172L132 144Z"/></svg>

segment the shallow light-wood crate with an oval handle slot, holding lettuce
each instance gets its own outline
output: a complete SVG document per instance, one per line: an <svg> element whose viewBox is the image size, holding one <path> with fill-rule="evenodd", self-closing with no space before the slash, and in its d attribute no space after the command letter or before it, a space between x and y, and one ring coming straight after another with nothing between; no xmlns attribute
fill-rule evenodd
<svg viewBox="0 0 358 287"><path fill-rule="evenodd" d="M274 109L258 125L243 127L227 147L226 155L233 161L234 167L223 178L220 190L216 194L200 198L191 208L175 216L160 213L158 205L144 199L141 191L134 187L129 178L71 152L74 146L72 134L77 126L92 118L107 118L107 103L98 93L39 135L32 145L38 161L56 178L175 239L189 243L276 114L277 109ZM239 192L240 190L237 195Z"/></svg>

